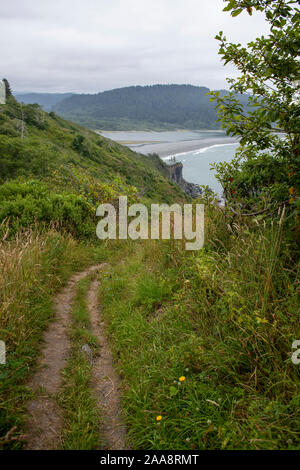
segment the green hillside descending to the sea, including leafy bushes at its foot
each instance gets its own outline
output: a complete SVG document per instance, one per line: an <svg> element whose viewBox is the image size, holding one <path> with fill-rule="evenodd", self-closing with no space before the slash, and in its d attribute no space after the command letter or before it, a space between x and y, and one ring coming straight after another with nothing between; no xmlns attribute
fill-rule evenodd
<svg viewBox="0 0 300 470"><path fill-rule="evenodd" d="M0 235L49 224L95 238L103 202L184 201L158 156L146 157L13 96L0 107Z"/></svg>

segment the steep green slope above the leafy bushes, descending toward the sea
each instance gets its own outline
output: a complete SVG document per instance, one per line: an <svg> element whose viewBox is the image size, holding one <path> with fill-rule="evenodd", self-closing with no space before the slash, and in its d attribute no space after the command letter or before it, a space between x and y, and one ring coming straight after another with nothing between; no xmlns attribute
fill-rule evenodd
<svg viewBox="0 0 300 470"><path fill-rule="evenodd" d="M146 198L185 197L166 178L166 166L158 157L137 154L38 105L20 105L14 97L0 107L0 155L0 183L18 177L53 182L54 172L66 175L73 169L72 180L74 172L107 184L119 177ZM64 189L66 184L65 177Z"/></svg>

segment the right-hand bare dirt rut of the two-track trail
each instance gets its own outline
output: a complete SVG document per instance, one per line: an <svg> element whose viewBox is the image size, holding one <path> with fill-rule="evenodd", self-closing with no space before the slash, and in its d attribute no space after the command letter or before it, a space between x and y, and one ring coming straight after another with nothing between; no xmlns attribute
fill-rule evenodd
<svg viewBox="0 0 300 470"><path fill-rule="evenodd" d="M103 419L101 436L110 450L128 449L126 430L121 417L120 379L113 367L112 355L104 333L104 323L98 304L99 282L93 280L88 292L87 303L93 334L99 339L100 355L93 364L94 396L101 409Z"/></svg>

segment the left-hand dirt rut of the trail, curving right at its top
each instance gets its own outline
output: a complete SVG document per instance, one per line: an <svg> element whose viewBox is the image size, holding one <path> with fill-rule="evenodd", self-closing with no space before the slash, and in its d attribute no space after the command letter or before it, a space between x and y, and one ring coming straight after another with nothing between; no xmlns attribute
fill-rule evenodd
<svg viewBox="0 0 300 470"><path fill-rule="evenodd" d="M28 383L35 398L28 403L29 418L26 423L27 449L57 449L61 444L62 415L56 403L61 386L61 371L70 353L67 334L71 323L70 311L74 287L77 282L103 264L91 266L75 274L55 298L55 319L44 335L44 347L38 360L37 371Z"/></svg>

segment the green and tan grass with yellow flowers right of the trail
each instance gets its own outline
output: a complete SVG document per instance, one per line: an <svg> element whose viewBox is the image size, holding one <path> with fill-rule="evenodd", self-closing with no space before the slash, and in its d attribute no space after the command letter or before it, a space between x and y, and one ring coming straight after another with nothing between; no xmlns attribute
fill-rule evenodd
<svg viewBox="0 0 300 470"><path fill-rule="evenodd" d="M102 282L130 438L137 449L300 448L299 268L284 217L206 215L199 252L135 242Z"/></svg>

